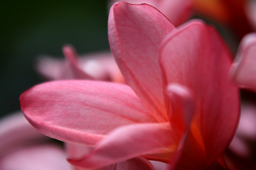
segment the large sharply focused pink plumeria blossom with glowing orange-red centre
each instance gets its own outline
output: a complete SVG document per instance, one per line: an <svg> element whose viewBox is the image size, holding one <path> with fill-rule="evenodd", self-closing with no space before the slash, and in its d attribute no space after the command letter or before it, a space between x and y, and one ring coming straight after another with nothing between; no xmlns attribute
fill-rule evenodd
<svg viewBox="0 0 256 170"><path fill-rule="evenodd" d="M153 169L149 159L169 163L168 169L224 169L239 95L228 79L230 53L215 29L201 21L175 28L153 6L125 2L112 6L108 29L129 86L39 84L21 95L27 120L45 135L92 146L70 157L81 168L136 160L140 169Z"/></svg>

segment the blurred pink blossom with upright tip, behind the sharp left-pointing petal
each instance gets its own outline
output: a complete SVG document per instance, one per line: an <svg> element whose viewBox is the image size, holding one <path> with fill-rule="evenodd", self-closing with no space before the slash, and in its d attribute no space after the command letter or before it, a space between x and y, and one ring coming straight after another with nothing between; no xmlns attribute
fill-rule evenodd
<svg viewBox="0 0 256 170"><path fill-rule="evenodd" d="M70 45L63 47L65 60L41 56L37 71L46 79L101 79L124 83L122 74L110 52L79 56Z"/></svg>

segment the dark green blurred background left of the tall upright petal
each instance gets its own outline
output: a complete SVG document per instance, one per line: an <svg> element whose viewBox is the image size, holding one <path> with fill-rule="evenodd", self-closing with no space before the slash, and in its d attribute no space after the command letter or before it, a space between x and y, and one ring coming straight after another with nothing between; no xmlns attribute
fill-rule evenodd
<svg viewBox="0 0 256 170"><path fill-rule="evenodd" d="M34 68L39 55L63 58L65 44L79 54L109 50L107 1L4 1L0 14L0 118L43 82Z"/></svg>

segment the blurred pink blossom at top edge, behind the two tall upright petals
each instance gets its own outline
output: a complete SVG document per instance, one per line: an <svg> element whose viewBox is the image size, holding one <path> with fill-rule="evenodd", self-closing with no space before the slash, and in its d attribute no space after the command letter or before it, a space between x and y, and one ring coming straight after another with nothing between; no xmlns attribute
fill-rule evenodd
<svg viewBox="0 0 256 170"><path fill-rule="evenodd" d="M114 4L119 0L112 0L110 4ZM169 18L174 26L179 26L191 17L193 11L192 0L125 0L130 4L149 4L159 9L161 13Z"/></svg>

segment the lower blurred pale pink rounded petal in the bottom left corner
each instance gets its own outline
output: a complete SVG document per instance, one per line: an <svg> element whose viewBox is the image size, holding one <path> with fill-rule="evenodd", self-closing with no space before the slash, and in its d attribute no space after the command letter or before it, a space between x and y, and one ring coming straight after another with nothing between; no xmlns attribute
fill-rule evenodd
<svg viewBox="0 0 256 170"><path fill-rule="evenodd" d="M54 145L24 147L0 159L4 170L72 170L65 153Z"/></svg>

